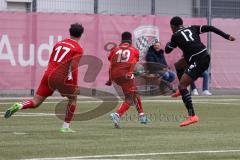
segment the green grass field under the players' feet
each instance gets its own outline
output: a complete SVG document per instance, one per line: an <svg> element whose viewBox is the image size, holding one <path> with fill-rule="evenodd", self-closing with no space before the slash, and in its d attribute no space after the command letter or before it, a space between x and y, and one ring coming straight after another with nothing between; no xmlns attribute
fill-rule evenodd
<svg viewBox="0 0 240 160"><path fill-rule="evenodd" d="M17 100L1 100L1 116ZM148 125L137 121L132 107L113 128L109 113L89 121L75 121L75 133L58 132L62 121L53 115L55 102L36 110L19 111L0 120L0 159L240 159L240 97L194 97L200 122L181 128L186 113L180 99L144 100ZM100 102L80 100L78 112ZM74 158L75 157L75 158Z"/></svg>

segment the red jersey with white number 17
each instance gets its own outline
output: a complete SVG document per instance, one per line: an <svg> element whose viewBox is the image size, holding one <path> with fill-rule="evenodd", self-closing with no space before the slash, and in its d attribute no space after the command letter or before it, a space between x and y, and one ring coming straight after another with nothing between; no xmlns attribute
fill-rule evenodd
<svg viewBox="0 0 240 160"><path fill-rule="evenodd" d="M83 49L77 41L64 39L58 42L49 59L46 74L55 74L59 78L66 78L77 83L78 63L83 55Z"/></svg>

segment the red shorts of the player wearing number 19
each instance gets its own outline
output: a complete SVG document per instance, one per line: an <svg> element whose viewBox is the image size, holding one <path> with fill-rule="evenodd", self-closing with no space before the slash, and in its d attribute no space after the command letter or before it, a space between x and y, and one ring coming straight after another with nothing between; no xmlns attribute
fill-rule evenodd
<svg viewBox="0 0 240 160"><path fill-rule="evenodd" d="M130 80L113 80L117 85L122 88L124 94L135 94L137 91L137 87L133 79Z"/></svg>

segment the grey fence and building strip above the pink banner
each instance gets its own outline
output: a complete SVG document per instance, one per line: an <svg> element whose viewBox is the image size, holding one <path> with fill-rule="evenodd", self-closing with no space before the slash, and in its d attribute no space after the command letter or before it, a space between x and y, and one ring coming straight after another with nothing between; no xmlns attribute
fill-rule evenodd
<svg viewBox="0 0 240 160"><path fill-rule="evenodd" d="M1 0L1 11L239 18L239 0Z"/></svg>

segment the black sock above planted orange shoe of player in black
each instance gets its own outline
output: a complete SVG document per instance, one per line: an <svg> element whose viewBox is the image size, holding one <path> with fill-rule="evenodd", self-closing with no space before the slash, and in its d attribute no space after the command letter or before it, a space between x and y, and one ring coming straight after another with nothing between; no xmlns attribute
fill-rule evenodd
<svg viewBox="0 0 240 160"><path fill-rule="evenodd" d="M188 115L194 116L195 113L194 113L193 104L192 104L192 97L189 91L187 89L180 89L180 88L179 88L179 91L182 95L183 103L185 104L185 107L188 110Z"/></svg>

